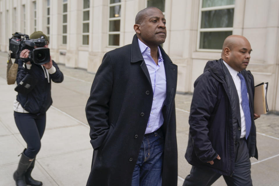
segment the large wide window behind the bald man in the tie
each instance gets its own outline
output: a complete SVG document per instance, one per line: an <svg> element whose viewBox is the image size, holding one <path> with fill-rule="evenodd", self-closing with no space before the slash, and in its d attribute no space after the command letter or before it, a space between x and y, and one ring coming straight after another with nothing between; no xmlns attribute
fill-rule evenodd
<svg viewBox="0 0 279 186"><path fill-rule="evenodd" d="M235 0L200 0L198 50L220 50L232 35Z"/></svg>

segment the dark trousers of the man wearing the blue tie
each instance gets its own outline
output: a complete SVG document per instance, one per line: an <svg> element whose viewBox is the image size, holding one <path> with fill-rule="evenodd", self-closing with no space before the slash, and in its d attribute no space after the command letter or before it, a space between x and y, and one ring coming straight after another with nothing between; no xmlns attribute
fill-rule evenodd
<svg viewBox="0 0 279 186"><path fill-rule="evenodd" d="M251 186L251 162L245 138L235 144L235 171L232 176L223 176L229 186ZM222 157L221 157L222 158ZM190 174L185 178L183 186L212 185L222 175L211 169L192 166Z"/></svg>

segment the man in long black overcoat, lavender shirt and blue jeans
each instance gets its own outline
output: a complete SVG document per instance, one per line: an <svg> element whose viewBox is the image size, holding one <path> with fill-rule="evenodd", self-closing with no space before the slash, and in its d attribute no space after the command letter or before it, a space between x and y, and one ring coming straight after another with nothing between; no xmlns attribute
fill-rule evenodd
<svg viewBox="0 0 279 186"><path fill-rule="evenodd" d="M177 185L177 66L162 12L141 10L132 44L105 54L85 108L94 149L87 186Z"/></svg>

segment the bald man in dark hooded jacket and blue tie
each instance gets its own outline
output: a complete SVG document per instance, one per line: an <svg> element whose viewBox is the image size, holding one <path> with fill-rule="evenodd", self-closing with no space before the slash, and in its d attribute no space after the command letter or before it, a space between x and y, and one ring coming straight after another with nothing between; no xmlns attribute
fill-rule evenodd
<svg viewBox="0 0 279 186"><path fill-rule="evenodd" d="M254 78L246 67L252 49L240 35L228 36L221 59L208 61L194 83L185 158L192 165L186 185L251 186L250 157L258 157Z"/></svg>

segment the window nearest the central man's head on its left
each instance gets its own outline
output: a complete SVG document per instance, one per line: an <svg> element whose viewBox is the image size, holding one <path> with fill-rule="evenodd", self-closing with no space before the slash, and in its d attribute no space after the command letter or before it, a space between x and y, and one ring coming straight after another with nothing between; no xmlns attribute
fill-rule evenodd
<svg viewBox="0 0 279 186"><path fill-rule="evenodd" d="M108 26L108 45L119 46L120 38L120 19L121 19L121 0L109 0L109 26Z"/></svg>

